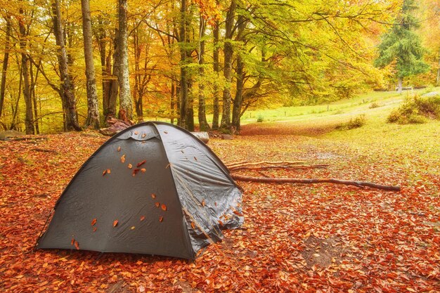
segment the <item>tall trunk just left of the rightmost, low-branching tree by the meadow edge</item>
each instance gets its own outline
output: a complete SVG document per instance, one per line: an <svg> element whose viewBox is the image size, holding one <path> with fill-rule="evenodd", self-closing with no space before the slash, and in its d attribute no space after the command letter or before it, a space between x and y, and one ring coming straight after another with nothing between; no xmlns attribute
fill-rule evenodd
<svg viewBox="0 0 440 293"><path fill-rule="evenodd" d="M221 124L223 129L231 128L231 82L232 82L232 36L235 18L236 1L231 1L231 6L226 15L226 32L224 41L224 77L225 86L223 89L223 109L221 112Z"/></svg>

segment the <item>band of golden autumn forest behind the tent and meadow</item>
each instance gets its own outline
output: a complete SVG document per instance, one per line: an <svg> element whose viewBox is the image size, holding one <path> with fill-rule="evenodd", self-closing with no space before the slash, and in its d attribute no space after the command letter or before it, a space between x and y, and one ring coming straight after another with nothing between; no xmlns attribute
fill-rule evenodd
<svg viewBox="0 0 440 293"><path fill-rule="evenodd" d="M438 85L439 14L436 0L1 1L0 129L239 131L250 109Z"/></svg>

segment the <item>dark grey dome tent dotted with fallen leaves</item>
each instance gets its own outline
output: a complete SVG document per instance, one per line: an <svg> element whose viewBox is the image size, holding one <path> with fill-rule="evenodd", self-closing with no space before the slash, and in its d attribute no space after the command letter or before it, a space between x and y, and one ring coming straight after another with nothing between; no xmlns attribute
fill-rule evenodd
<svg viewBox="0 0 440 293"><path fill-rule="evenodd" d="M195 259L242 222L240 189L219 157L178 126L145 122L82 165L36 247Z"/></svg>

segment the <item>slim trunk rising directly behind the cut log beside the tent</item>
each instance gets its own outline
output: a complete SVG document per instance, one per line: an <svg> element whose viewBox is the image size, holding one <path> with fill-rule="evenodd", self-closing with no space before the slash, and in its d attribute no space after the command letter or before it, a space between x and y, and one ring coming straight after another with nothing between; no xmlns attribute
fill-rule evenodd
<svg viewBox="0 0 440 293"><path fill-rule="evenodd" d="M200 131L209 130L209 124L206 119L206 105L205 105L205 84L203 75L205 74L205 26L206 22L200 15L200 48L199 48L199 108L198 108L198 118L199 118L199 128Z"/></svg>

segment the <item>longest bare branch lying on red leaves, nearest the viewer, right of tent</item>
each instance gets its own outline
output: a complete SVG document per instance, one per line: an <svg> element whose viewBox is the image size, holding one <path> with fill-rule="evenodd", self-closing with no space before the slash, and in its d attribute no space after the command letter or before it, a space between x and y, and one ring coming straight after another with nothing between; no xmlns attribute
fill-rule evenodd
<svg viewBox="0 0 440 293"><path fill-rule="evenodd" d="M334 184L343 184L343 185L354 185L358 187L370 187L377 188L382 190L392 190L392 191L400 191L400 186L392 186L392 185L381 185L376 183L364 182L364 181L349 181L349 180L339 180L334 178L265 178L265 177L249 177L249 176L241 176L231 174L232 178L237 181L247 181L247 182L259 182L259 183L304 183L304 184L313 184L313 183L334 183Z"/></svg>

